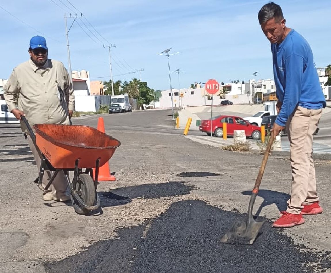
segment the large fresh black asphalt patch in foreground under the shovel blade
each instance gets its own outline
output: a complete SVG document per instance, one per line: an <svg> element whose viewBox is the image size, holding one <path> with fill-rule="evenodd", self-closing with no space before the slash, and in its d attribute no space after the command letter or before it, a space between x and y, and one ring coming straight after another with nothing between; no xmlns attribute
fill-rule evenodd
<svg viewBox="0 0 331 273"><path fill-rule="evenodd" d="M266 222L253 245L220 238L245 214L198 200L173 203L143 225L118 230L118 237L92 244L46 272L325 272L330 252L313 252Z"/></svg>

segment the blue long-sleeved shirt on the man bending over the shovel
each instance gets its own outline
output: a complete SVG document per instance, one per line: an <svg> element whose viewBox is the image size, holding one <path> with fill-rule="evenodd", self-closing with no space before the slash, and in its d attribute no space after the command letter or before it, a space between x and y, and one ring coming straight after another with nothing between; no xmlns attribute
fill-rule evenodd
<svg viewBox="0 0 331 273"><path fill-rule="evenodd" d="M308 42L291 30L280 44L271 44L277 98L282 103L275 120L285 126L297 106L321 109L326 106Z"/></svg>

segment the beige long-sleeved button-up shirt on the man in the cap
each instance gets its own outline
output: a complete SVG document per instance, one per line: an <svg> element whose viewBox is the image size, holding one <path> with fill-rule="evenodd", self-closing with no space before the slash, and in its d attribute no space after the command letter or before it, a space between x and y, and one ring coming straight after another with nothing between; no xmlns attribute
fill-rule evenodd
<svg viewBox="0 0 331 273"><path fill-rule="evenodd" d="M61 62L51 59L42 68L31 60L14 68L4 86L4 97L9 111L23 111L31 127L69 124L68 110L73 111L75 105L68 71ZM26 131L22 121L21 127Z"/></svg>

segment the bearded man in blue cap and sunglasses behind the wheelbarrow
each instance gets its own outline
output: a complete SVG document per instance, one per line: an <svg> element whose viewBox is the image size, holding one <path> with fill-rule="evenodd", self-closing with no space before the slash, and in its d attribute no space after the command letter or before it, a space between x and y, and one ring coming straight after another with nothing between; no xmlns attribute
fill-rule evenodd
<svg viewBox="0 0 331 273"><path fill-rule="evenodd" d="M48 59L44 37L32 37L28 52L30 60L14 68L4 87L9 111L19 120L24 115L31 127L34 124L70 124L75 98L67 69L61 62ZM21 128L24 133L27 131L22 121ZM27 140L39 174L41 159L29 136ZM50 177L51 172L45 172L43 186ZM64 173L59 172L51 188L44 191L43 200L69 201L67 187Z"/></svg>

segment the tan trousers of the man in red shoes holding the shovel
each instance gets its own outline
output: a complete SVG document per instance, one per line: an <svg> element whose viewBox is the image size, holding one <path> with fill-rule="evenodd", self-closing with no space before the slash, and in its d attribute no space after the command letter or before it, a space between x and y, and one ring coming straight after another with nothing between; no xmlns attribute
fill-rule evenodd
<svg viewBox="0 0 331 273"><path fill-rule="evenodd" d="M287 201L289 213L300 214L302 204L319 200L312 157L312 136L321 115L322 109L313 110L298 106L286 124L292 169L291 197Z"/></svg>

